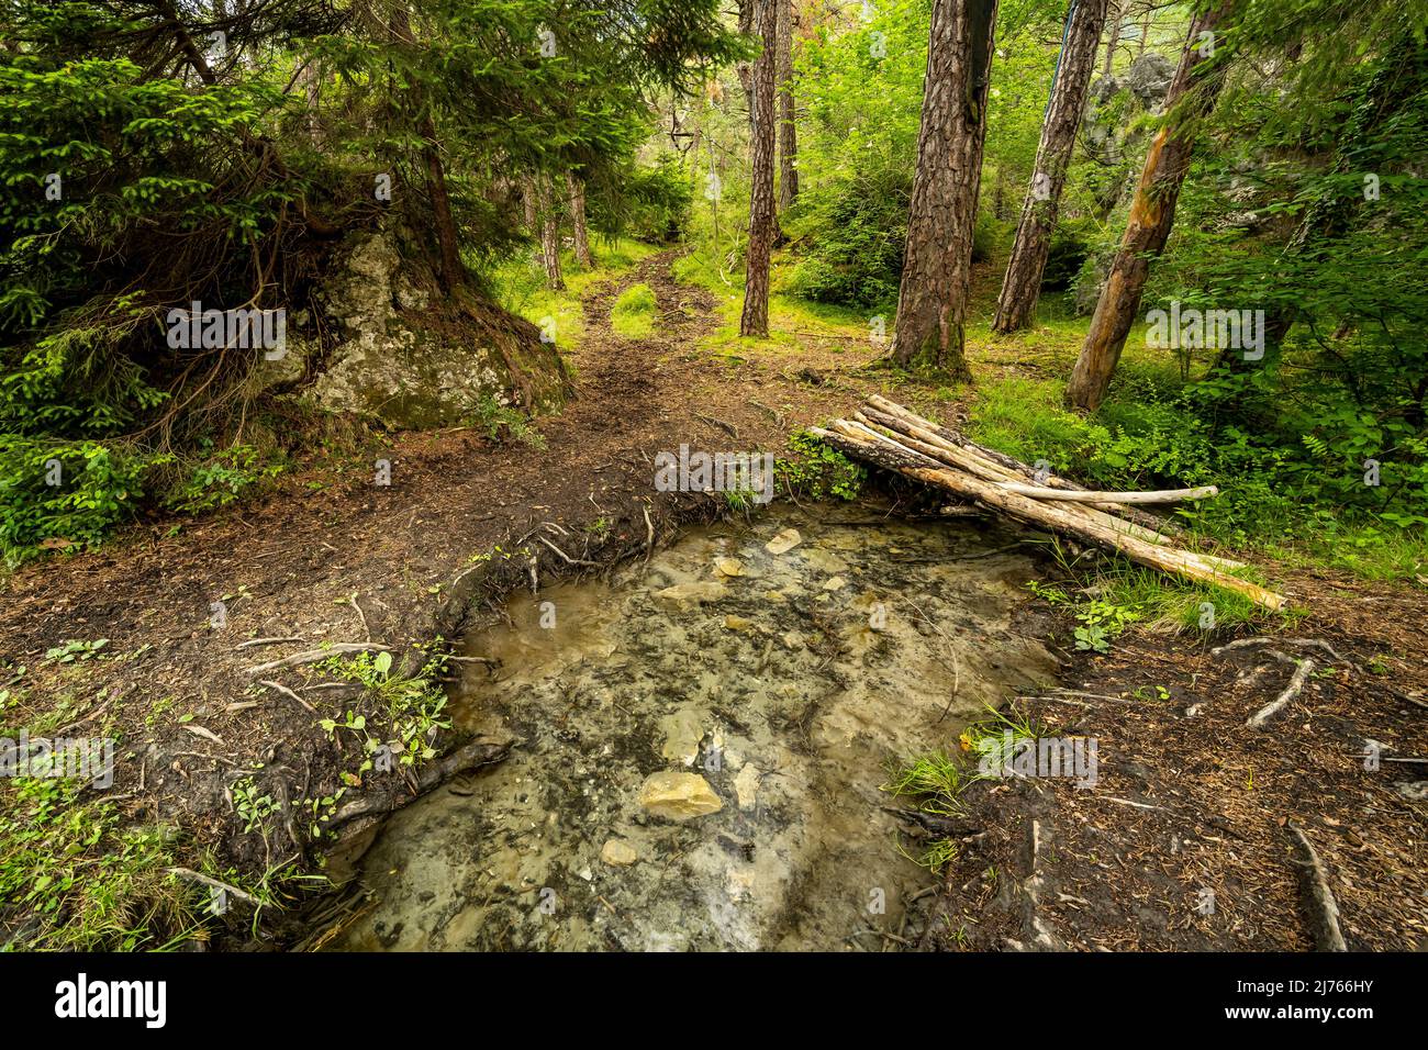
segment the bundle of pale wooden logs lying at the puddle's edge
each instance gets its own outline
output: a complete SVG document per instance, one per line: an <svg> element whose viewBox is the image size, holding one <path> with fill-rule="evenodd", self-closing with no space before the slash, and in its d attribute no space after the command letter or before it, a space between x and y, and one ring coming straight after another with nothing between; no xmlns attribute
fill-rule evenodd
<svg viewBox="0 0 1428 1050"><path fill-rule="evenodd" d="M1284 606L1282 596L1231 574L1244 567L1242 561L1174 546L1182 531L1138 506L1211 499L1218 494L1214 486L1088 491L877 396L853 413L853 419L837 420L831 430L814 427L811 433L847 456L1024 524L1051 529L1161 571L1237 591L1269 610Z"/></svg>

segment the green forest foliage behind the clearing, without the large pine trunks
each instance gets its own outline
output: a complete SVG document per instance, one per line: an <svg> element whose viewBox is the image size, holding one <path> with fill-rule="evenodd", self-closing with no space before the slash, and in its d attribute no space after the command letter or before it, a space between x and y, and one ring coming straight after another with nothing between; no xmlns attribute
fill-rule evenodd
<svg viewBox="0 0 1428 1050"><path fill-rule="evenodd" d="M1095 43L1035 324L995 337L1027 367L981 377L977 427L1107 487L1220 483L1228 499L1201 524L1238 543L1345 536L1408 569L1401 547L1417 541L1401 530L1428 523L1425 14L1232 7L1224 84L1194 117L1194 160L1137 320L1172 301L1265 310L1292 317L1282 346L1259 367L1215 369L1211 353L1145 349L1137 329L1098 411L1060 409L1062 351L1121 240L1192 17L1191 4L1121 0ZM564 286L561 236L588 264L584 220L575 236L565 207L577 186L598 251L620 237L688 243L678 273L737 294L754 9L6 3L6 557L97 541L144 507L211 509L280 471L307 409L274 394L310 383L320 353L256 381L263 366L247 359L166 353L160 316L207 297L287 304L301 327L330 244L393 214L403 251L460 286L477 324L491 323L493 297L536 320L550 311L538 286ZM992 339L1067 14L1060 0L997 9L974 344ZM930 17L927 0L788 7L777 309L891 331ZM371 191L384 179L397 187L386 201ZM320 321L311 311L316 343ZM523 393L473 411L534 407ZM53 484L56 464L73 484Z"/></svg>

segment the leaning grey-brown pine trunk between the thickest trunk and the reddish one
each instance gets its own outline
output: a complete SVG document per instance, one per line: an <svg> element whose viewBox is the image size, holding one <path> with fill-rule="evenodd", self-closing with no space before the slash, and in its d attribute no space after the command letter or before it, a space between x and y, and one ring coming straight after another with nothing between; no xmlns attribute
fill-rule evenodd
<svg viewBox="0 0 1428 1050"><path fill-rule="evenodd" d="M1075 147L1077 129L1085 109L1085 94L1095 69L1095 53L1105 26L1107 0L1077 0L1065 33L1065 47L1051 86L1051 104L1041 126L1037 166L1031 189L1021 206L1017 240L1007 263L1007 276L997 300L997 331L1017 331L1031 326L1041 291L1041 274L1051 251L1051 233L1057 224L1067 164Z"/></svg>

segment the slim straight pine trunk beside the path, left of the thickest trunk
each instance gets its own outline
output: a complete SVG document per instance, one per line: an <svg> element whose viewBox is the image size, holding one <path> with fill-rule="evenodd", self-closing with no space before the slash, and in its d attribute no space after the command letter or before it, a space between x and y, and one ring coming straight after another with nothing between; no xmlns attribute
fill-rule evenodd
<svg viewBox="0 0 1428 1050"><path fill-rule="evenodd" d="M748 254L744 263L741 336L768 336L768 256L774 244L774 73L778 64L778 0L760 0L758 36L764 50L753 74L753 176L748 201Z"/></svg>

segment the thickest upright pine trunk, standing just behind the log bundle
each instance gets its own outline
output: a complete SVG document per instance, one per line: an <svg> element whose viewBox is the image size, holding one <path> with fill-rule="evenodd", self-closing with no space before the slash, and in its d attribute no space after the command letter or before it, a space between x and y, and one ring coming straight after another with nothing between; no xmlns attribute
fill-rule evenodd
<svg viewBox="0 0 1428 1050"><path fill-rule="evenodd" d="M892 359L971 381L962 324L997 0L934 0Z"/></svg>

